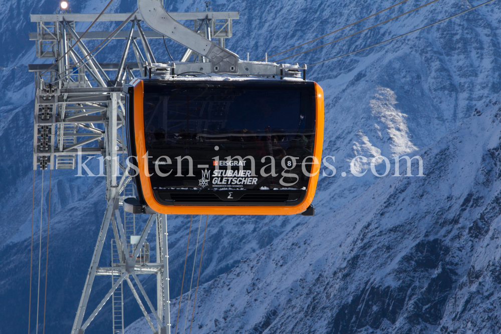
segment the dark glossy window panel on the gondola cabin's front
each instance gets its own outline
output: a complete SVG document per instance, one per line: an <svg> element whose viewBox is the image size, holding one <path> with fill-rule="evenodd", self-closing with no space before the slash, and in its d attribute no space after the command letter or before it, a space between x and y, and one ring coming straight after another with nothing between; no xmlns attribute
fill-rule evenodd
<svg viewBox="0 0 501 334"><path fill-rule="evenodd" d="M313 155L315 141L315 86L313 83L283 82L144 82L144 129L146 150L149 153L150 173L154 173L160 156L168 156L171 165L157 165L162 173L174 169L171 175L150 177L153 188L183 188L199 186L198 165L209 165L227 156L253 156L256 174L270 163L264 156L276 160L277 177L261 177L255 184L242 189L284 188L279 182L285 156L297 157L298 165L290 173L299 181L287 188L304 189L309 178L302 173L301 163ZM214 148L218 147L216 151ZM188 161L182 161L182 174L175 177L175 157L193 159L195 177L186 177ZM165 159L162 159L165 161ZM312 159L306 160L307 170ZM204 170L204 168L201 168ZM219 166L219 169L226 169ZM233 170L238 167L233 166ZM247 159L244 170L250 170ZM268 168L266 172L271 172ZM288 172L288 173L289 173ZM212 178L211 178L212 179ZM294 182L285 178L284 182ZM228 185L232 188L236 185ZM221 186L219 186L221 187ZM209 183L205 188L213 188Z"/></svg>

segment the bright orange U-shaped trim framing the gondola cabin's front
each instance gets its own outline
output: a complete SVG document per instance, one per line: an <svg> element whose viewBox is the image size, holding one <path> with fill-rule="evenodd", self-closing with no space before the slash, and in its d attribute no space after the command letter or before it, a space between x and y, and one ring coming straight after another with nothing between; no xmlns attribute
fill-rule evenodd
<svg viewBox="0 0 501 334"><path fill-rule="evenodd" d="M138 80L134 83L134 134L136 140L136 154L139 167L139 179L141 189L146 204L158 213L164 214L223 214L223 215L286 215L297 214L305 211L313 201L315 190L317 189L318 175L320 173L320 163L322 161L322 145L324 138L324 91L315 83L316 96L316 122L315 122L315 144L313 155L317 158L318 164L312 165L311 174L304 200L295 206L250 206L250 205L162 205L158 203L153 195L151 187L148 164L144 164L146 154L146 143L144 136L144 83Z"/></svg>

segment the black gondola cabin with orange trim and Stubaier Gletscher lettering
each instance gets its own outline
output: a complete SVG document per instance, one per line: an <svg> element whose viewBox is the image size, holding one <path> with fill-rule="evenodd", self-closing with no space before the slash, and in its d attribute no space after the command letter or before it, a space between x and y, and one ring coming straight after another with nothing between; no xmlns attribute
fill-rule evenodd
<svg viewBox="0 0 501 334"><path fill-rule="evenodd" d="M166 214L298 214L315 195L324 97L315 82L135 79L124 87L139 202Z"/></svg>

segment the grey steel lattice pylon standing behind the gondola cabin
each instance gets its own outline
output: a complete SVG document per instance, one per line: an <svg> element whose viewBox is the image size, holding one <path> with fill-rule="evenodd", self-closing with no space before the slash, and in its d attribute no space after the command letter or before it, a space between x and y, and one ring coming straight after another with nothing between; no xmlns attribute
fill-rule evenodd
<svg viewBox="0 0 501 334"><path fill-rule="evenodd" d="M224 40L231 37L232 19L238 19L238 12L194 12L170 13L176 20L192 20L192 30L199 35L217 41L224 48ZM35 72L35 114L33 168L38 169L78 169L79 176L90 173L82 159L83 155L98 155L102 159L100 175L106 179L107 207L101 223L98 240L85 281L82 296L75 316L72 334L83 334L99 310L112 299L113 334L123 334L123 286L130 287L146 320L154 333L170 333L169 312L169 275L167 250L167 216L150 215L140 235L136 234L133 214L125 213L124 219L119 211L123 199L134 196L134 188L128 175L128 167L119 163L124 161L127 143L122 133L125 125L124 94L122 86L134 78L134 73L145 76L144 66L154 60L148 39L163 38L154 31L142 31L139 13L105 14L98 21L122 22L115 33L90 31L82 37L76 32L76 22L92 22L97 14L56 14L32 15L31 21L37 23L37 32L30 33L30 40L36 41L37 57L59 60L57 65L31 64L29 70ZM131 26L128 27L127 25ZM87 40L119 39L125 41L125 48L119 63L98 63L87 57ZM136 42L139 39L140 43ZM106 46L106 44L105 44ZM145 56L140 50L142 46ZM70 51L70 49L73 49ZM127 63L129 49L136 58L135 63ZM63 55L65 55L63 57ZM193 56L195 62L206 62L201 55L186 50L182 61ZM82 64L84 64L82 66ZM77 68L77 69L75 69ZM115 79L109 74L116 72ZM70 74L70 75L69 75ZM87 159L90 159L87 157ZM122 175L118 170L121 169ZM99 267L107 232L111 227L112 261L109 267ZM149 260L149 245L146 242L152 226L155 225L156 262ZM144 264L146 264L144 266ZM138 274L157 276L157 305L150 301ZM90 291L96 275L110 275L112 287L92 311L87 312ZM131 279L133 278L133 279ZM132 283L135 281L139 292ZM155 328L145 305L158 325ZM126 306L126 305L125 305Z"/></svg>

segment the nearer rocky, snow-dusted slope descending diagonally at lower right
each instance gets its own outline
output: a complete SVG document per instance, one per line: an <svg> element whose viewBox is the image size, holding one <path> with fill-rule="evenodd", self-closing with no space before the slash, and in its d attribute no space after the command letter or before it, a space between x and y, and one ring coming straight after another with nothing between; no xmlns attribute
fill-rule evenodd
<svg viewBox="0 0 501 334"><path fill-rule="evenodd" d="M417 152L425 177L390 173L201 286L193 332L499 332L498 101Z"/></svg>

